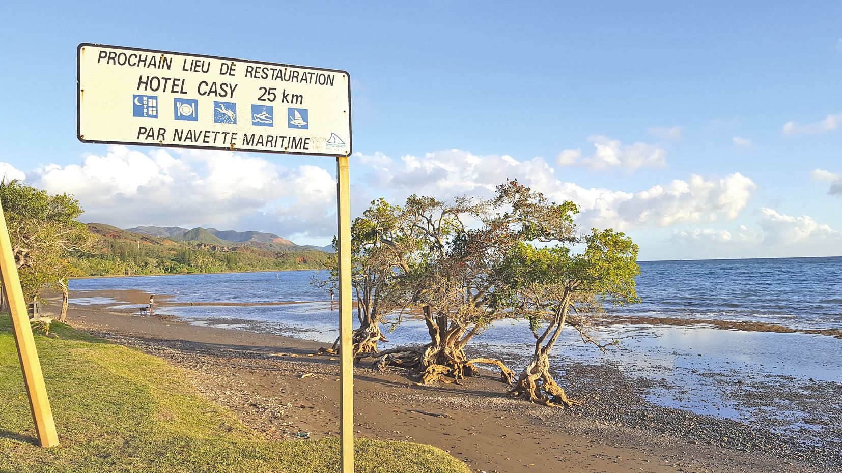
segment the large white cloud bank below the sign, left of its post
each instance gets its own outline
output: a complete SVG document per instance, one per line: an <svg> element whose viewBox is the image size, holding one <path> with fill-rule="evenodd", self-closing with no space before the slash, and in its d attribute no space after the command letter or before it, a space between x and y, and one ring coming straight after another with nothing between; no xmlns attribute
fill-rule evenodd
<svg viewBox="0 0 842 473"><path fill-rule="evenodd" d="M285 168L232 151L170 152L109 146L82 165L35 169L29 182L75 195L84 221L123 228L213 225L315 238L335 233L336 182L321 167Z"/></svg>

